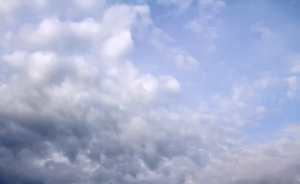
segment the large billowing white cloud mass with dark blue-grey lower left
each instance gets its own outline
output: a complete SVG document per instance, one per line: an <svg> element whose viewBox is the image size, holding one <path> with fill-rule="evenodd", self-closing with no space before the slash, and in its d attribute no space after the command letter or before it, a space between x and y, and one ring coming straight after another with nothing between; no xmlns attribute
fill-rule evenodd
<svg viewBox="0 0 300 184"><path fill-rule="evenodd" d="M208 19L224 7L199 4L211 6ZM22 19L32 8L39 18ZM0 183L300 182L299 124L260 143L236 127L253 109L259 120L268 112L252 97L271 78L193 107L182 78L138 67L130 54L140 42L180 72L200 60L158 28L149 5L0 0L0 15Z"/></svg>

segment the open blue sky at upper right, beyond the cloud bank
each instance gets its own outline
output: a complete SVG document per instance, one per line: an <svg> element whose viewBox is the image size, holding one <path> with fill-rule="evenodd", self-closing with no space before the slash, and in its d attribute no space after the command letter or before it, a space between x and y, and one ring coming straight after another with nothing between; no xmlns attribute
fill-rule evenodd
<svg viewBox="0 0 300 184"><path fill-rule="evenodd" d="M192 84L185 85L182 90L184 98L196 104L201 100L210 102L212 95L216 93L230 97L234 84L251 85L254 80L264 78L265 85L268 85L272 81L266 78L274 78L278 80L276 84L257 91L261 96L253 100L255 102L252 105L263 105L268 109L255 131L272 133L282 124L297 122L298 98L290 99L286 96L288 83L282 80L284 77L298 77L297 73L288 72L286 58L296 54L299 47L299 4L295 1L268 0L225 3L225 7L203 25L213 26L217 31L217 38L212 43L216 51L211 53L205 51L205 37L184 28L186 22L199 17L197 2L192 2L188 9L180 13L171 5L149 3L155 24L173 37L177 45L194 56L199 62L199 68L193 71L178 71L175 66L169 64L170 61L163 53L156 53L155 48L143 43L136 45L135 50L138 51L133 55L142 59L147 54L145 52L151 50L149 60L158 67L145 70L171 74L182 83ZM207 7L208 13L209 8L211 7ZM166 15L166 12L169 14ZM142 68L146 67L139 61L137 63ZM149 63L145 65L147 64ZM252 101L246 100L250 100L250 103Z"/></svg>

